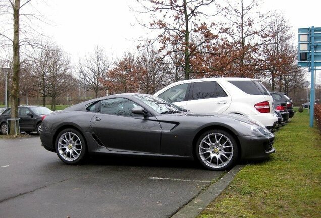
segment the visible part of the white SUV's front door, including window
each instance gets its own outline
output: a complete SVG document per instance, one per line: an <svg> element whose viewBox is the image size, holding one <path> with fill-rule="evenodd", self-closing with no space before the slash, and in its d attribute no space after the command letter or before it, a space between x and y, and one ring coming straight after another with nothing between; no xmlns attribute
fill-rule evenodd
<svg viewBox="0 0 321 218"><path fill-rule="evenodd" d="M185 109L189 89L190 83L179 84L167 89L157 97Z"/></svg>

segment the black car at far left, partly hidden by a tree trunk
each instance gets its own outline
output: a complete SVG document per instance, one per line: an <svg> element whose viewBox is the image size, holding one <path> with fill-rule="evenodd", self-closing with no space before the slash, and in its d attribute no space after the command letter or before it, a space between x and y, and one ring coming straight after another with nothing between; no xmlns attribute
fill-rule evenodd
<svg viewBox="0 0 321 218"><path fill-rule="evenodd" d="M50 113L52 113L52 111L43 106L19 106L18 116L20 118L20 131L26 133L36 131L39 133L43 116ZM0 115L0 131L2 134L7 134L8 118L11 118L11 108L7 108Z"/></svg>

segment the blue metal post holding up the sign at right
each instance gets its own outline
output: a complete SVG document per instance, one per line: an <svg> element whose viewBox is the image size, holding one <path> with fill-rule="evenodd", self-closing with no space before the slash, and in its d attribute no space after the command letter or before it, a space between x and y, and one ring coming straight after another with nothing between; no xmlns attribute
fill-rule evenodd
<svg viewBox="0 0 321 218"><path fill-rule="evenodd" d="M310 127L314 122L314 26L311 28L311 91L310 91Z"/></svg>

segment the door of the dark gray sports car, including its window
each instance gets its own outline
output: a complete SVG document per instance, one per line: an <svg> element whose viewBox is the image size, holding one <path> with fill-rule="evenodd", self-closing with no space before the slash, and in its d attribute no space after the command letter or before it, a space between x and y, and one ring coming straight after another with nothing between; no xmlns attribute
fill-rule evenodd
<svg viewBox="0 0 321 218"><path fill-rule="evenodd" d="M139 105L126 98L105 99L98 103L99 113L92 118L90 126L109 150L160 152L162 129L155 117L133 114L132 108Z"/></svg>

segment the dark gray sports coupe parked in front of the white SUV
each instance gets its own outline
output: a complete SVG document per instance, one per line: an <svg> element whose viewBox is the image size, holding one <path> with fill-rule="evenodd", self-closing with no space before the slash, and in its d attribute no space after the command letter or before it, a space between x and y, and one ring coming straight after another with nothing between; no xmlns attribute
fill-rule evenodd
<svg viewBox="0 0 321 218"><path fill-rule="evenodd" d="M93 99L47 115L42 146L67 164L90 154L197 159L225 170L238 159L264 159L275 152L274 135L243 116L196 114L147 94Z"/></svg>

